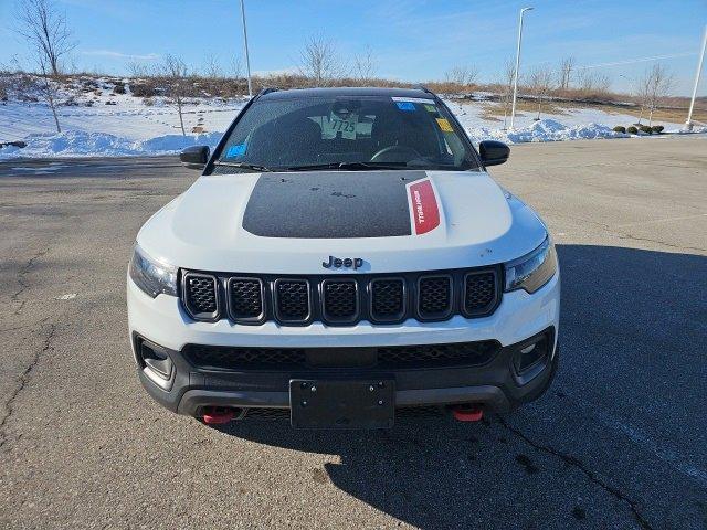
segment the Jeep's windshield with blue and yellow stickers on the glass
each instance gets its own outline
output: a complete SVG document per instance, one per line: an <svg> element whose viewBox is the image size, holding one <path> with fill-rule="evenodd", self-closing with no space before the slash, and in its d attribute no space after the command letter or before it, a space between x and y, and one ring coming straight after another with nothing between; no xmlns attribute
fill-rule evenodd
<svg viewBox="0 0 707 530"><path fill-rule="evenodd" d="M230 132L217 163L260 171L478 169L461 134L432 98L260 99Z"/></svg>

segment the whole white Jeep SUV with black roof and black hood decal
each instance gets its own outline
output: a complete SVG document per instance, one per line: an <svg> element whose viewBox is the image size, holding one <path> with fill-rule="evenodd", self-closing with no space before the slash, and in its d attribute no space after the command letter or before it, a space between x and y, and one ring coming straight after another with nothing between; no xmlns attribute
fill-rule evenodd
<svg viewBox="0 0 707 530"><path fill-rule="evenodd" d="M140 381L208 424L390 427L434 406L481 418L537 399L558 362L546 225L426 89L263 91L137 235Z"/></svg>

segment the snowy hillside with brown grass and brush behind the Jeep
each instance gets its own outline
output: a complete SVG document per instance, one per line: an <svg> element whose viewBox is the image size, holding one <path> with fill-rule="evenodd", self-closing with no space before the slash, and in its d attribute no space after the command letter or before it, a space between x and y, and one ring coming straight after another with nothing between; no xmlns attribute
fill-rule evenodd
<svg viewBox="0 0 707 530"><path fill-rule="evenodd" d="M51 82L62 127L62 134L56 134L41 80L27 74L6 75L3 80L0 144L25 147L6 145L0 148L0 158L162 155L189 145L214 145L247 100L241 95L245 88L242 82L188 80L182 87L183 136L175 96L166 80L65 76ZM542 104L541 119L537 120L537 102L524 95L515 130L508 132L504 130L504 106L493 91L460 91L443 97L475 140L519 142L626 136L611 129L635 123L639 114L631 103L556 98ZM658 109L656 116L659 119L654 119L654 125L664 125L666 131L678 130L685 119L683 113L671 109Z"/></svg>

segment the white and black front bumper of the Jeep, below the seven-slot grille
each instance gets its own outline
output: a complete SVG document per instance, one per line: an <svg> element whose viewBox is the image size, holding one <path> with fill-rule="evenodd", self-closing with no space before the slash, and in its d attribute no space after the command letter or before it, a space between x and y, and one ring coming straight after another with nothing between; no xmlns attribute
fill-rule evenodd
<svg viewBox="0 0 707 530"><path fill-rule="evenodd" d="M541 395L557 365L559 325L559 275L528 295L504 295L496 311L485 318L454 317L443 322L409 320L394 326L359 322L351 327L283 327L275 322L238 326L226 320L196 322L175 297L152 299L128 278L128 322L135 353L143 338L169 356L173 370L168 380L150 377L136 356L140 381L148 393L172 412L197 416L205 406L289 407L291 379L351 378L393 379L395 405L445 405L474 403L488 411L506 412ZM539 333L550 333L550 352L530 374L514 370L514 354ZM496 340L500 349L483 365L428 369L200 369L182 353L187 344L254 348L366 348L377 346L439 344Z"/></svg>

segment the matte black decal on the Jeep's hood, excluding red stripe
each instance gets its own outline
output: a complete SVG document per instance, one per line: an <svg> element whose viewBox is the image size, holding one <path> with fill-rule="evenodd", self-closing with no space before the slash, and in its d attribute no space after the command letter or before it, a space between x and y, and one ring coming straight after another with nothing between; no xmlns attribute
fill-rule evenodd
<svg viewBox="0 0 707 530"><path fill-rule="evenodd" d="M243 227L263 237L411 235L407 186L424 171L263 173Z"/></svg>

